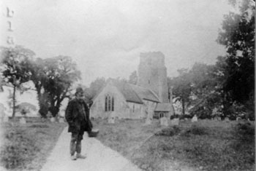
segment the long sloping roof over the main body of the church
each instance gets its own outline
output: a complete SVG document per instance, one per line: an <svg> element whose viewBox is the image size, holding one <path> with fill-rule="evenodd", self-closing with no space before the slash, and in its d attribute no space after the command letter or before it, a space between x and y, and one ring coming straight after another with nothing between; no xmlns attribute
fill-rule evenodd
<svg viewBox="0 0 256 171"><path fill-rule="evenodd" d="M143 100L159 102L157 95L149 89L134 84L120 83L118 81L113 81L113 83L129 102L141 104L143 103Z"/></svg>

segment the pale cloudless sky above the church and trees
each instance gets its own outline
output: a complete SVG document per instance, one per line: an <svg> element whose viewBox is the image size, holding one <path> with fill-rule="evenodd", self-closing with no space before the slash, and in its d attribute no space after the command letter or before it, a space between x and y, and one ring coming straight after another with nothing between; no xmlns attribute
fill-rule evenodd
<svg viewBox="0 0 256 171"><path fill-rule="evenodd" d="M8 46L10 36L37 57L70 56L86 86L98 77L128 79L138 70L140 52L162 52L170 77L196 62L214 64L225 55L216 40L223 15L232 9L227 0L2 0L0 5L0 46Z"/></svg>

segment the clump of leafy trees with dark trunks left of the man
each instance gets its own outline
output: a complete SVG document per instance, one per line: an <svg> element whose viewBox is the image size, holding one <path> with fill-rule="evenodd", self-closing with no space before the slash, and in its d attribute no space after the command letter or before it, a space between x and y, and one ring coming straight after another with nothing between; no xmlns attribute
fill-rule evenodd
<svg viewBox="0 0 256 171"><path fill-rule="evenodd" d="M67 98L74 81L80 79L76 63L68 56L48 59L33 58L30 49L16 46L1 47L1 80L13 87L12 106L15 106L15 92L26 81L33 81L39 100L39 113L48 111L56 116L61 102ZM15 116L13 108L12 116Z"/></svg>

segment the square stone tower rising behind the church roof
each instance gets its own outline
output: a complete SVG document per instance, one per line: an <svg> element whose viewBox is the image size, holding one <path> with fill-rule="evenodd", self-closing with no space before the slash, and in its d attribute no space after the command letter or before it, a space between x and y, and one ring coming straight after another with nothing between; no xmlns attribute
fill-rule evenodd
<svg viewBox="0 0 256 171"><path fill-rule="evenodd" d="M160 102L168 103L167 71L162 52L140 53L138 86L153 90Z"/></svg>

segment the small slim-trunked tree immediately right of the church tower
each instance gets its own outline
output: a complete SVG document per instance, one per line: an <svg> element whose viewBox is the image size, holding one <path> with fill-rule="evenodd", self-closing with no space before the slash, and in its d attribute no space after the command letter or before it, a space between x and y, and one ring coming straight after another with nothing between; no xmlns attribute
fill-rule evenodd
<svg viewBox="0 0 256 171"><path fill-rule="evenodd" d="M170 86L173 87L173 95L176 101L181 102L182 114L185 114L185 107L189 106L192 91L188 69L178 70L179 76L170 79Z"/></svg>

